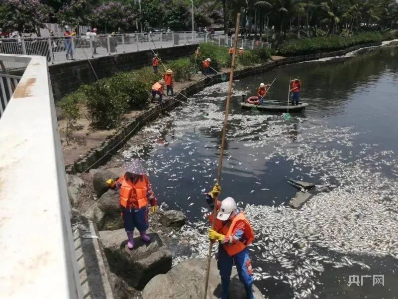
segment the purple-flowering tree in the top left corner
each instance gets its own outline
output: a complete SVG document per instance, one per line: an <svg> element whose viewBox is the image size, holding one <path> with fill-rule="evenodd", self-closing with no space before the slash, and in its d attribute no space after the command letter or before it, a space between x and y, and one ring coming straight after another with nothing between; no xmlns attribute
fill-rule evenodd
<svg viewBox="0 0 398 299"><path fill-rule="evenodd" d="M0 28L2 31L37 33L49 20L52 8L39 0L1 0Z"/></svg>

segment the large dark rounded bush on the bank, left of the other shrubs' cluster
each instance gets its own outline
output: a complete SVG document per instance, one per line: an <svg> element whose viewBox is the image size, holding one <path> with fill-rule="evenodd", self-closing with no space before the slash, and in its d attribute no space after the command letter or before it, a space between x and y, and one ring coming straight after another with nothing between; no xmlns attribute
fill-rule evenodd
<svg viewBox="0 0 398 299"><path fill-rule="evenodd" d="M128 95L103 82L84 86L90 125L96 129L111 129L120 123Z"/></svg>

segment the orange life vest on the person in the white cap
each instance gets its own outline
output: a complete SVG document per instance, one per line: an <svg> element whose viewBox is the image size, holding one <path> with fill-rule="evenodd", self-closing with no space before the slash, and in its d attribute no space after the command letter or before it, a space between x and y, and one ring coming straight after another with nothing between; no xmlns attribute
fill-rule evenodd
<svg viewBox="0 0 398 299"><path fill-rule="evenodd" d="M218 211L217 211L218 213ZM207 216L207 218L210 220L210 223L213 222L213 215L210 214ZM234 218L225 221L218 220L215 218L215 223L214 223L214 230L217 233L220 233L224 236L230 236L232 235L233 228L235 227L236 222L238 221L243 221L245 223L245 229L244 229L244 236L246 238L245 242L242 241L237 241L235 243L224 243L222 246L224 247L225 251L227 254L231 257L234 256L235 254L238 254L241 252L243 249L246 248L246 246L250 245L254 241L254 231L252 226L249 223L249 220L247 220L245 213L241 210L238 215L236 215Z"/></svg>

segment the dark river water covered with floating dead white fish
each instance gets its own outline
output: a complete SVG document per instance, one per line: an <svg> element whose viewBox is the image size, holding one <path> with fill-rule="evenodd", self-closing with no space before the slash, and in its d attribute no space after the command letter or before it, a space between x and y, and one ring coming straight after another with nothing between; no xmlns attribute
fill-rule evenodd
<svg viewBox="0 0 398 299"><path fill-rule="evenodd" d="M256 285L266 297L398 297L397 68L398 50L386 48L234 82L222 195L246 208L255 226ZM302 80L305 113L285 121L240 109L242 94L275 77L267 97L287 100L293 76ZM187 256L207 254L203 193L216 177L226 89L205 89L146 127L145 147L131 142L122 151L124 159L147 161L160 202L186 212L189 227L177 237L194 240ZM316 184L302 210L284 207L298 191L288 178ZM384 286L373 286L379 274ZM371 277L348 286L350 275Z"/></svg>

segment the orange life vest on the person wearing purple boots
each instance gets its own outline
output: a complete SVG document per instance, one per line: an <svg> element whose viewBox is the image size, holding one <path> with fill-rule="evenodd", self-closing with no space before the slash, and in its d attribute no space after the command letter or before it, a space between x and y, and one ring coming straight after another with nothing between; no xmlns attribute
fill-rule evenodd
<svg viewBox="0 0 398 299"><path fill-rule="evenodd" d="M141 209L148 205L147 198L147 184L148 178L144 175L144 179L139 179L136 183L132 183L125 179L125 176L121 178L120 186L120 205L124 208L134 207L135 209Z"/></svg>

